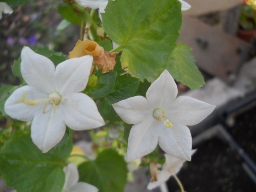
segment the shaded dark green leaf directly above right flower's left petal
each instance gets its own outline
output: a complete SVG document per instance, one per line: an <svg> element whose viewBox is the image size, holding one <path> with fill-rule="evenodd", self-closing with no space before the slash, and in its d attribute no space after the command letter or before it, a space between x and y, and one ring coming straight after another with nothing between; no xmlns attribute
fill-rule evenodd
<svg viewBox="0 0 256 192"><path fill-rule="evenodd" d="M107 102L114 104L129 97L133 97L139 84L140 80L138 78L128 76L128 74L119 74L116 77L115 91L106 96Z"/></svg>

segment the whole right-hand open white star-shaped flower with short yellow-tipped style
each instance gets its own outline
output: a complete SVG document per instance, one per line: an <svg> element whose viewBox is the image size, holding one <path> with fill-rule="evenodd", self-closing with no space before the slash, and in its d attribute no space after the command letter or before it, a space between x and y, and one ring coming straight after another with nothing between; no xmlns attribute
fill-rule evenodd
<svg viewBox="0 0 256 192"><path fill-rule="evenodd" d="M128 161L152 152L158 142L171 156L191 159L192 138L186 125L195 125L215 108L188 96L179 96L170 73L165 70L143 96L134 96L113 104L117 114L134 124L128 138Z"/></svg>

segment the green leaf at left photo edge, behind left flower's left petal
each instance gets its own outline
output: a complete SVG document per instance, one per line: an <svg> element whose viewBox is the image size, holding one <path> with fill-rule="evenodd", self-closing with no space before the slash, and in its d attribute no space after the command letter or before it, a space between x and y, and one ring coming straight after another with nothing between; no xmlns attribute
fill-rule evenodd
<svg viewBox="0 0 256 192"><path fill-rule="evenodd" d="M0 88L0 111L2 112L2 115L4 116L6 113L4 111L4 103L8 99L8 97L18 88L21 86L12 86L12 85L6 85Z"/></svg>

